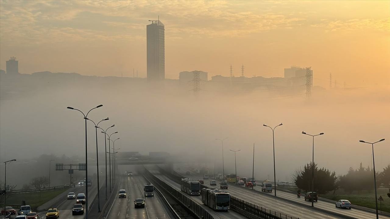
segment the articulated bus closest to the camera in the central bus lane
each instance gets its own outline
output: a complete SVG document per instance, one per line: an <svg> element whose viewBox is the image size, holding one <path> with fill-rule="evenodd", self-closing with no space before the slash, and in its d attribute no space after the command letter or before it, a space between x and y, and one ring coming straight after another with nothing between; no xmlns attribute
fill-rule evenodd
<svg viewBox="0 0 390 219"><path fill-rule="evenodd" d="M215 211L228 211L230 209L230 194L219 189L203 188L201 191L204 205Z"/></svg>

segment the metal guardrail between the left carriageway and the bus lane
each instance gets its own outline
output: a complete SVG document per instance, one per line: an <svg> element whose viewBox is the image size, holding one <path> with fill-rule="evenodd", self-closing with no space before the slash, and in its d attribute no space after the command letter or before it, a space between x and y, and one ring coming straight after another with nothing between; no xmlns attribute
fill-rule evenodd
<svg viewBox="0 0 390 219"><path fill-rule="evenodd" d="M197 218L199 219L214 219L214 217L207 212L201 205L196 203L195 201L191 200L191 198L188 198L180 191L177 191L172 186L168 185L164 181L160 180L156 176L152 175L146 168L145 168L145 174L152 178L154 182L156 182L160 187L165 189L167 193L171 194L171 196L179 201L184 207L188 208Z"/></svg>

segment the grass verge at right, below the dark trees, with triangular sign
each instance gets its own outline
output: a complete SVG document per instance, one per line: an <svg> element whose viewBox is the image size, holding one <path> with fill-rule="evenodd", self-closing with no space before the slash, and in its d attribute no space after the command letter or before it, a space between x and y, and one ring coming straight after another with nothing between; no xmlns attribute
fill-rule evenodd
<svg viewBox="0 0 390 219"><path fill-rule="evenodd" d="M378 189L378 198L382 196L382 211L390 212L390 198L387 196L388 189ZM360 205L367 208L375 209L375 193L365 192L360 194L321 194L320 197L328 198L331 200L346 199L351 201L352 205ZM378 201L378 210L381 210L380 201Z"/></svg>

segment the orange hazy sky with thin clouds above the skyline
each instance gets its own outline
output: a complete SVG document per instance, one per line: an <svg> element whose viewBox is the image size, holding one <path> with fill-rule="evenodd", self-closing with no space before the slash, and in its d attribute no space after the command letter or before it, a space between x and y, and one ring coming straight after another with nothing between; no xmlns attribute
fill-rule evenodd
<svg viewBox="0 0 390 219"><path fill-rule="evenodd" d="M283 76L390 87L390 1L0 1L0 68L146 76L146 25L165 24L165 75Z"/></svg>

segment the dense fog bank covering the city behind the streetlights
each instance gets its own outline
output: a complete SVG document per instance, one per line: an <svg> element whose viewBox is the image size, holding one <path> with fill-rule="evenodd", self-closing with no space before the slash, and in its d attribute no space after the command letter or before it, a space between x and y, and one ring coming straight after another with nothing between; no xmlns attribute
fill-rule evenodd
<svg viewBox="0 0 390 219"><path fill-rule="evenodd" d="M286 97L269 92L207 92L193 95L177 81L146 83L144 79L100 78L66 85L32 85L32 91L4 93L0 102L0 159L18 159L7 165L7 177L17 184L23 175L20 162L51 157L78 157L85 160L84 120L80 112L94 109L88 118L118 131L115 148L147 155L167 151L172 156L188 157L190 165L215 159L222 162L223 142L225 174L234 173L237 152L239 176L252 175L252 150L255 143L255 177L273 178L272 131L263 124L275 126L275 159L277 180L291 180L291 174L312 159L312 138L301 134L324 132L315 138L314 160L319 167L345 174L351 166L372 165L371 145L359 140L386 140L375 145L376 170L390 163L390 92L373 88L313 89L312 98L305 95ZM44 79L43 79L44 81ZM280 97L277 97L280 95ZM272 98L270 98L272 97ZM99 153L104 151L104 136L98 130ZM96 153L94 125L88 123L88 150ZM103 153L104 154L104 153ZM42 162L47 162L42 161ZM55 162L52 162L54 165ZM104 159L101 160L104 162ZM19 164L18 164L19 163ZM28 164L25 164L28 165ZM48 165L48 164L47 164ZM90 164L92 168L93 162ZM197 164L196 164L197 165ZM40 168L35 175L48 174ZM54 172L54 166L52 166ZM0 175L4 166L0 168ZM56 173L57 174L57 173ZM65 173L64 173L65 175ZM28 179L24 178L25 182ZM60 182L58 182L59 184ZM23 183L18 183L22 185Z"/></svg>

